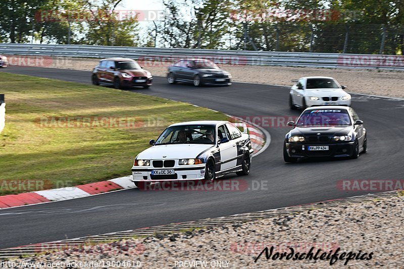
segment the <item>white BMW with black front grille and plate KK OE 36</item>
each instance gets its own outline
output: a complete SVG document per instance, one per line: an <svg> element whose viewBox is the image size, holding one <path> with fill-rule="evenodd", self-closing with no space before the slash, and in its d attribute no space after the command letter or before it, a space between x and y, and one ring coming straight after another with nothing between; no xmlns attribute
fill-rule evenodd
<svg viewBox="0 0 404 269"><path fill-rule="evenodd" d="M215 179L229 173L248 175L251 140L226 121L194 121L170 125L151 147L140 152L132 167L133 182Z"/></svg>

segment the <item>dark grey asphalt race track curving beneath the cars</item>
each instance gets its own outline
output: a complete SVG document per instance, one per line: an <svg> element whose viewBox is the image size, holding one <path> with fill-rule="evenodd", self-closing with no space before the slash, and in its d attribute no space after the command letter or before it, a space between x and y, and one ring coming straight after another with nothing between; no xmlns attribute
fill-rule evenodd
<svg viewBox="0 0 404 269"><path fill-rule="evenodd" d="M90 72L9 67L2 72L90 84ZM332 76L332 71L330 71ZM310 74L307 74L310 75ZM293 78L290 78L293 79ZM349 81L340 81L348 85ZM349 88L348 88L349 89ZM111 91L115 89L111 88ZM133 92L191 102L240 117L298 116L288 108L286 87L234 83L229 87L169 85L155 77L150 89ZM7 101L7 96L6 96ZM7 106L12 106L8 103ZM253 159L248 177L264 188L243 191L140 191L129 189L86 198L0 210L0 248L76 238L366 194L337 188L343 179L402 179L404 100L353 95L365 122L368 153L358 159L285 164L283 139L290 127L265 127L269 148ZM154 137L150 137L152 139ZM131 167L128 167L128 175ZM234 179L228 175L221 180ZM380 192L380 191L373 191ZM270 232L270 231L268 231Z"/></svg>

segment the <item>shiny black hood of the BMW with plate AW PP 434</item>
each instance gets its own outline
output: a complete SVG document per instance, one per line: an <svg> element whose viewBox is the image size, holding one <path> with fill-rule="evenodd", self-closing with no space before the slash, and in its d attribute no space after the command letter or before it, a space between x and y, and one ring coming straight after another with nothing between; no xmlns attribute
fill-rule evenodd
<svg viewBox="0 0 404 269"><path fill-rule="evenodd" d="M348 135L354 127L349 125L336 125L336 126L328 126L328 127L295 127L290 130L291 136L311 136L317 135L320 133L322 136L334 136L334 135Z"/></svg>

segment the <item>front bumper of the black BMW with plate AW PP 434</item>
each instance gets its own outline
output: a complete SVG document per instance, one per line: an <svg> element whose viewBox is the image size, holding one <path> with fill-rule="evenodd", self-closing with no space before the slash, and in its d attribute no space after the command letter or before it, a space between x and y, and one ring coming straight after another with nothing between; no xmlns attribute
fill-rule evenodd
<svg viewBox="0 0 404 269"><path fill-rule="evenodd" d="M355 152L355 142L345 143L285 143L286 152L290 157L350 157ZM328 146L328 150L309 150L309 146Z"/></svg>

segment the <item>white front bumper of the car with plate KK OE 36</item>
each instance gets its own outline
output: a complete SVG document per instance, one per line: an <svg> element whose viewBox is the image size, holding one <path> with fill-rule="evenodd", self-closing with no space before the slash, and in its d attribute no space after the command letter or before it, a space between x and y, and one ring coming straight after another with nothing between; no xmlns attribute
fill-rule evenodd
<svg viewBox="0 0 404 269"><path fill-rule="evenodd" d="M152 175L153 170L174 170L174 175L157 176ZM132 167L133 181L177 181L177 180L200 180L205 179L205 164L175 166L171 168L153 168L153 167Z"/></svg>

